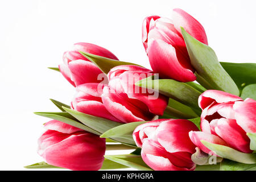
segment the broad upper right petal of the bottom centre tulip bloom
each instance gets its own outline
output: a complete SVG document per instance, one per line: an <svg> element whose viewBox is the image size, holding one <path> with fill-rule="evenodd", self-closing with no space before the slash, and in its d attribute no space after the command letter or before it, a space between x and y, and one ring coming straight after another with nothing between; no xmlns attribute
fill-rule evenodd
<svg viewBox="0 0 256 182"><path fill-rule="evenodd" d="M199 131L197 126L186 119L169 119L156 129L158 142L168 152L195 153L195 144L189 139L189 131Z"/></svg>

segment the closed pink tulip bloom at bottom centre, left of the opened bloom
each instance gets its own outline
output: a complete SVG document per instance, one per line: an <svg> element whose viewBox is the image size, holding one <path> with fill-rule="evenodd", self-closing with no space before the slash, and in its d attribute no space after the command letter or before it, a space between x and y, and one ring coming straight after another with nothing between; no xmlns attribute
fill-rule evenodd
<svg viewBox="0 0 256 182"><path fill-rule="evenodd" d="M157 171L190 171L196 168L191 155L195 144L189 131L199 131L185 119L158 119L139 125L133 132L144 162Z"/></svg>

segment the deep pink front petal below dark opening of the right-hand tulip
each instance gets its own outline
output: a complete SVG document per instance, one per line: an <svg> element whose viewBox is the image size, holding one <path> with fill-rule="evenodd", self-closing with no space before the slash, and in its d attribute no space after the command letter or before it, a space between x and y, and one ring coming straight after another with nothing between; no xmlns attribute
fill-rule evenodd
<svg viewBox="0 0 256 182"><path fill-rule="evenodd" d="M218 119L215 131L228 145L238 151L251 153L250 139L234 119Z"/></svg>

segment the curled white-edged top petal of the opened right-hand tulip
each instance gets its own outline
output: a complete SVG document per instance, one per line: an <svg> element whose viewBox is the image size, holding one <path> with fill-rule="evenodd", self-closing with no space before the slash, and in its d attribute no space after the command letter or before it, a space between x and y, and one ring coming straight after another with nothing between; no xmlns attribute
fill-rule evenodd
<svg viewBox="0 0 256 182"><path fill-rule="evenodd" d="M242 98L220 90L206 90L199 96L198 104L201 109L205 109L214 101L217 103L234 102L242 101Z"/></svg>

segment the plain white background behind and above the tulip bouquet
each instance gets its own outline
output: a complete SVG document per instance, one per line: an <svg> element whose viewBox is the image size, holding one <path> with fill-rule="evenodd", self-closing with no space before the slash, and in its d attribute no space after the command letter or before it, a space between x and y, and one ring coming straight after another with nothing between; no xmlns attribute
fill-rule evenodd
<svg viewBox="0 0 256 182"><path fill-rule="evenodd" d="M203 24L219 60L255 63L254 1L0 1L0 169L23 170L43 159L37 139L58 111L49 98L69 103L74 88L55 71L73 43L89 42L120 60L150 68L141 42L148 15L171 18L179 7Z"/></svg>

